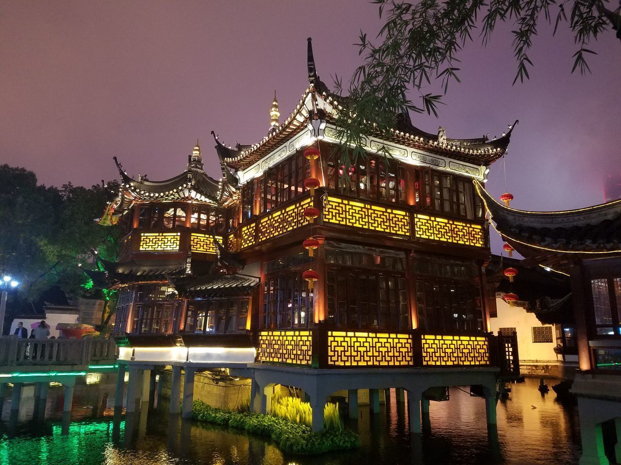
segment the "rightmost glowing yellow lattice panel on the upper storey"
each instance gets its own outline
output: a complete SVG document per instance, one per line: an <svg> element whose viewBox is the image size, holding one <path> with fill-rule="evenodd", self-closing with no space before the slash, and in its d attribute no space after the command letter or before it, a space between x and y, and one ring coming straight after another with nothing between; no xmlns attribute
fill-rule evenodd
<svg viewBox="0 0 621 465"><path fill-rule="evenodd" d="M414 234L419 239L453 242L465 246L485 246L483 226L438 216L414 215Z"/></svg>

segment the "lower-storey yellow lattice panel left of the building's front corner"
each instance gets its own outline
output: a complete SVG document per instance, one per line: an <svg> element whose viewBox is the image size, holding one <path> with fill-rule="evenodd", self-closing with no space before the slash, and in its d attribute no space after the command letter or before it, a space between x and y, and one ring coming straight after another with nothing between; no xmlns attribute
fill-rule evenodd
<svg viewBox="0 0 621 465"><path fill-rule="evenodd" d="M261 331L258 361L311 365L312 333L309 330Z"/></svg>

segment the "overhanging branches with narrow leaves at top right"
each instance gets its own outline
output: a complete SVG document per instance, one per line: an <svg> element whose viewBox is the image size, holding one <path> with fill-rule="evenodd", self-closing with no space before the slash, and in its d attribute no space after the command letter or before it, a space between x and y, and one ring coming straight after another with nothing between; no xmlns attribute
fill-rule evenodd
<svg viewBox="0 0 621 465"><path fill-rule="evenodd" d="M450 81L459 82L456 65L461 48L473 42L473 34L480 26L479 35L485 45L499 22L513 22L513 48L517 61L514 84L528 79L532 66L528 51L532 38L537 35L540 20L551 22L555 28L566 23L576 43L572 73L590 72L586 56L591 40L604 32L616 30L621 39L619 7L610 9L608 0L420 0L408 3L398 0L373 0L379 4L379 15L386 9L386 22L380 30L378 45L360 33L356 44L364 63L356 69L348 88L338 76L337 91L348 91L345 114L340 118L338 131L341 161L348 166L359 156L363 135L387 132L395 127L396 115L408 111L437 116L437 105L442 95L423 94L421 89L432 81L442 83L446 93ZM409 92L417 91L420 101L414 102ZM351 146L354 147L350 150ZM386 154L388 156L388 154Z"/></svg>

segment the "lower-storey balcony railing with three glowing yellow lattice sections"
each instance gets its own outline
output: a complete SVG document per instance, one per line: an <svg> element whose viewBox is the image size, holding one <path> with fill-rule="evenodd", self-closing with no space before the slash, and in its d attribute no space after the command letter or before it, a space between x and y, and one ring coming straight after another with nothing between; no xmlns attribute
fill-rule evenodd
<svg viewBox="0 0 621 465"><path fill-rule="evenodd" d="M262 330L256 354L257 361L262 363L313 368L496 366L503 372L519 374L515 337L500 340L491 334Z"/></svg>

